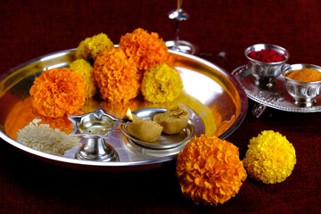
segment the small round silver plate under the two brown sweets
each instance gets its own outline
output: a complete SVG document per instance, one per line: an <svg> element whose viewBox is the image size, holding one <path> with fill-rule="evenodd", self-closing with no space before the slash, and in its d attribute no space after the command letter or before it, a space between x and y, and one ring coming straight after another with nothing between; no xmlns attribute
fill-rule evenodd
<svg viewBox="0 0 321 214"><path fill-rule="evenodd" d="M164 113L165 111L167 111L167 109L148 108L148 109L133 111L133 114L135 114L138 118L141 118L141 119L152 120L155 114ZM192 110L188 109L188 111L190 112L190 115L191 115ZM127 125L128 124L123 124L121 125L120 128L121 128L121 131L125 134L125 136L128 137L129 141L132 141L132 142L135 142L136 144L140 144L147 148L153 148L153 149L174 148L180 144L185 144L187 141L189 141L193 136L195 136L196 131L198 132L197 136L200 136L200 134L203 134L205 132L205 127L202 122L202 119L199 116L197 116L195 112L192 112L192 117L190 117L186 128L184 128L180 133L176 135L167 135L165 133L161 133L161 136L152 143L144 142L137 139L134 136L130 136L127 131Z"/></svg>

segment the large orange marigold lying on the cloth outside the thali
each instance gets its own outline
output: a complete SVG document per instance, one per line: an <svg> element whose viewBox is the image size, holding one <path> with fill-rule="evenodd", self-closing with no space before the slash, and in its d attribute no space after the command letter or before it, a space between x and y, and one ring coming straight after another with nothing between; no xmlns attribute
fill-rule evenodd
<svg viewBox="0 0 321 214"><path fill-rule="evenodd" d="M217 136L194 136L177 158L182 193L196 204L217 205L238 193L246 171L238 147Z"/></svg>

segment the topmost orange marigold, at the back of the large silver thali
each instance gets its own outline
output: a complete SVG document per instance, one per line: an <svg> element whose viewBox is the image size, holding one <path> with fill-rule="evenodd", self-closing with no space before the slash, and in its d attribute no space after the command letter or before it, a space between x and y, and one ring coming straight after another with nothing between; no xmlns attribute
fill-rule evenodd
<svg viewBox="0 0 321 214"><path fill-rule="evenodd" d="M131 57L139 70L148 70L155 64L163 64L168 59L169 49L157 33L135 29L120 37L119 48Z"/></svg>

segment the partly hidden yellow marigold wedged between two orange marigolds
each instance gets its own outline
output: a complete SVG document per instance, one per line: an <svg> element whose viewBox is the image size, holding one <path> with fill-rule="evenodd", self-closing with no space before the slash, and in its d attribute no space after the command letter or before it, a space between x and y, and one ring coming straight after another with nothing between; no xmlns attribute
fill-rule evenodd
<svg viewBox="0 0 321 214"><path fill-rule="evenodd" d="M78 59L70 63L70 70L84 78L86 86L86 98L92 98L96 94L94 67L84 59Z"/></svg>

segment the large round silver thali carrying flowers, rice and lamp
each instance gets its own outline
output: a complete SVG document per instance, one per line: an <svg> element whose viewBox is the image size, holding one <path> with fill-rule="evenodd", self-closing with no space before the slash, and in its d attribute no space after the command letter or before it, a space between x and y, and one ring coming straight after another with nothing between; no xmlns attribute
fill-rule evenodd
<svg viewBox="0 0 321 214"><path fill-rule="evenodd" d="M75 159L78 148L71 149L63 156L56 156L20 144L8 134L11 131L5 126L10 119L8 115L17 103L29 98L29 89L34 79L43 70L68 68L70 62L75 60L75 50L51 53L26 62L0 79L0 111L2 112L0 114L0 137L20 152L37 160L66 168L98 171L154 169L166 162L176 160L178 152L193 136L217 135L225 139L240 126L245 117L247 96L243 87L232 75L217 65L196 56L169 50L172 57L170 66L178 71L184 85L182 95L177 98L176 104L185 106L190 114L187 127L178 136L161 136L159 142L152 145L145 144L128 136L126 124L122 124L112 130L111 135L106 139L106 142L118 153L118 161L78 160ZM240 77L236 76L236 78L240 80ZM91 108L86 109L85 113L105 107L102 106L101 98L95 99L87 104ZM152 117L155 112L168 109L168 106L164 104L152 105L141 100L133 106L131 111L145 119ZM110 113L108 108L105 110ZM115 112L115 109L112 112ZM19 120L20 117L22 116L16 115L15 119ZM19 123L18 120L9 120L9 122L14 125ZM79 137L81 137L80 143L85 144L86 139Z"/></svg>

